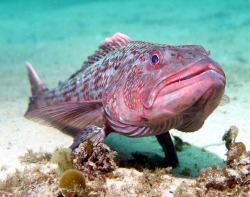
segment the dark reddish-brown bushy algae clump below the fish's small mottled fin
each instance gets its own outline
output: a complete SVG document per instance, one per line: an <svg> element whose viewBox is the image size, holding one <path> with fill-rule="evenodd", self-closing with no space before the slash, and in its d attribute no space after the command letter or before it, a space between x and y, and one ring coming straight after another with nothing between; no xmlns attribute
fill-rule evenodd
<svg viewBox="0 0 250 197"><path fill-rule="evenodd" d="M88 139L72 151L73 167L82 171L89 180L116 169L114 157L117 153L103 144Z"/></svg>

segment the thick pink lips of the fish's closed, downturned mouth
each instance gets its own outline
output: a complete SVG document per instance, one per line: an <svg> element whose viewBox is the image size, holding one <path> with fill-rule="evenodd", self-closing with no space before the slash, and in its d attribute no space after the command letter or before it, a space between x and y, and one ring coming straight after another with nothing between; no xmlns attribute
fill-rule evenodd
<svg viewBox="0 0 250 197"><path fill-rule="evenodd" d="M219 80L225 84L225 73L219 64L209 57L204 57L193 63L190 63L184 69L174 73L173 75L161 79L156 84L153 91L150 92L147 100L143 101L144 107L152 107L159 94L170 94L174 91L178 91L190 86L193 83L199 83L201 78L199 78L199 80L195 80L197 76L206 75L206 73L211 75L211 72L215 72L216 77L218 77ZM163 89L164 91L162 91Z"/></svg>

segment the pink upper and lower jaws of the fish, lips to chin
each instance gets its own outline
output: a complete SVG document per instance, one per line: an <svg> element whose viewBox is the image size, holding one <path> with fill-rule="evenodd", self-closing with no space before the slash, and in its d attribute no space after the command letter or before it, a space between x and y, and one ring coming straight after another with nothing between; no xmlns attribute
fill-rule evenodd
<svg viewBox="0 0 250 197"><path fill-rule="evenodd" d="M145 107L145 119L157 124L184 111L202 111L200 118L205 120L219 105L225 83L219 64L204 57L157 84L150 94L152 106Z"/></svg>

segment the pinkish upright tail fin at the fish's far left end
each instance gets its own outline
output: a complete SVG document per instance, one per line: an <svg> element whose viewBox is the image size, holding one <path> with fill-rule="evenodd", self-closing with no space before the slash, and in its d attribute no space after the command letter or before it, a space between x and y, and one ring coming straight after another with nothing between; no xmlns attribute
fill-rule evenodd
<svg viewBox="0 0 250 197"><path fill-rule="evenodd" d="M26 68L28 70L32 96L30 97L29 107L24 116L26 116L30 111L33 111L38 108L37 106L38 96L48 90L47 87L40 80L36 71L29 62L26 62Z"/></svg>

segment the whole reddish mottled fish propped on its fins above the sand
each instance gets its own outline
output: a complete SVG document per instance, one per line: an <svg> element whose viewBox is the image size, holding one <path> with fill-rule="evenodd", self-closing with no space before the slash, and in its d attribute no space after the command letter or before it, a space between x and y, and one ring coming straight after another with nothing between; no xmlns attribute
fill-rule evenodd
<svg viewBox="0 0 250 197"><path fill-rule="evenodd" d="M71 149L112 132L156 136L167 165L179 163L170 135L199 130L227 100L226 76L200 45L132 41L116 33L67 81L49 90L26 62L32 96L25 117L74 137Z"/></svg>

